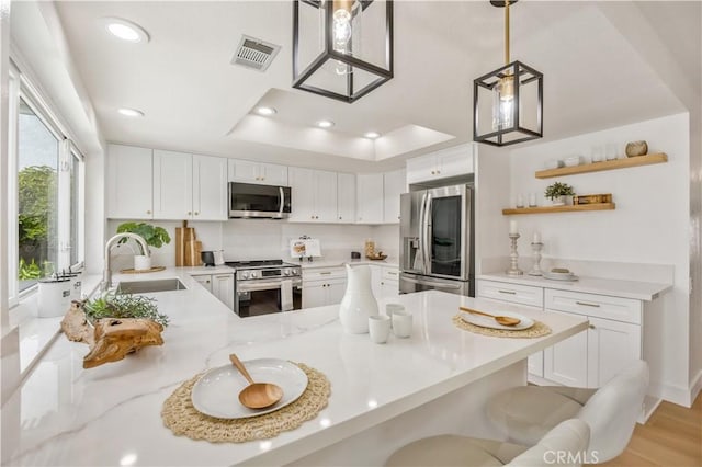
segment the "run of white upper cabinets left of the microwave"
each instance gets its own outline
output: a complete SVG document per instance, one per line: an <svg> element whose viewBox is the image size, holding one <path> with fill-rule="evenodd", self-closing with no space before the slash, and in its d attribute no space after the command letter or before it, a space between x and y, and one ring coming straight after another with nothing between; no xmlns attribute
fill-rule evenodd
<svg viewBox="0 0 702 467"><path fill-rule="evenodd" d="M226 158L120 145L109 151L107 217L227 219Z"/></svg>

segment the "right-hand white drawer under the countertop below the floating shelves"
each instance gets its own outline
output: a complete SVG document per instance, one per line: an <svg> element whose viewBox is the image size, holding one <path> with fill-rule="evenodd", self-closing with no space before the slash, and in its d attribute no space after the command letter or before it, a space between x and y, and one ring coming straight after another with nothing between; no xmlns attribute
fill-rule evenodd
<svg viewBox="0 0 702 467"><path fill-rule="evenodd" d="M641 324L641 300L546 288L545 308Z"/></svg>

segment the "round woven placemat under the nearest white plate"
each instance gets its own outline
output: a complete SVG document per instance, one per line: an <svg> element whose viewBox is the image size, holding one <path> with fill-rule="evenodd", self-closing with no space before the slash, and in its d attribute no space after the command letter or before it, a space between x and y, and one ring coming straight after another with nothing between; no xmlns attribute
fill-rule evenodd
<svg viewBox="0 0 702 467"><path fill-rule="evenodd" d="M225 420L200 413L193 407L190 395L202 374L195 375L170 395L163 402L161 418L177 436L204 440L211 443L244 443L278 436L312 420L327 407L331 385L327 377L315 368L295 363L308 378L307 389L291 403L271 413L249 419Z"/></svg>

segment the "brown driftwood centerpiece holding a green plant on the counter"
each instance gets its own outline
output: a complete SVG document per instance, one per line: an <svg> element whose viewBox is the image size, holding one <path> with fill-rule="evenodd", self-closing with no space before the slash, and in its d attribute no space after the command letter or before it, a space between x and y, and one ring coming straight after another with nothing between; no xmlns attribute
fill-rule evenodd
<svg viewBox="0 0 702 467"><path fill-rule="evenodd" d="M112 295L112 297L122 297L122 301L126 303L134 300L132 296ZM138 297L136 301L143 303L143 298L145 297ZM103 304L111 303L110 296L99 300ZM82 301L73 301L61 321L61 330L70 341L84 342L90 348L88 355L83 357L83 368L116 362L144 346L163 343L161 337L163 324L155 319L117 316L98 318L91 323L83 307ZM120 315L120 312L115 314ZM165 323L168 322L163 315L157 315L158 318Z"/></svg>

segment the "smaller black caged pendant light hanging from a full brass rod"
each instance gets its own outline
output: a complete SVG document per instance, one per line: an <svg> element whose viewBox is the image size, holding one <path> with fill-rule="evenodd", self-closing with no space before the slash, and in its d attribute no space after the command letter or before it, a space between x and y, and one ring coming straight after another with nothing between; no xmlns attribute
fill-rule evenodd
<svg viewBox="0 0 702 467"><path fill-rule="evenodd" d="M543 75L509 57L509 8L505 9L505 66L473 81L473 140L507 146L543 136Z"/></svg>

